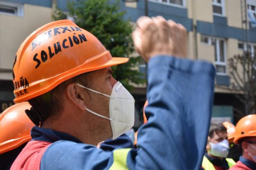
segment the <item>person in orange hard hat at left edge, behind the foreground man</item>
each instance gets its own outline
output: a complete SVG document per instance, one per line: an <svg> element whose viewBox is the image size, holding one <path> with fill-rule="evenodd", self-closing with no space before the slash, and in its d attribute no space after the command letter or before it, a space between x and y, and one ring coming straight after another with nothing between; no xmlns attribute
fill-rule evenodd
<svg viewBox="0 0 256 170"><path fill-rule="evenodd" d="M13 161L32 138L35 124L27 117L28 102L14 104L0 115L0 169L9 170Z"/></svg>

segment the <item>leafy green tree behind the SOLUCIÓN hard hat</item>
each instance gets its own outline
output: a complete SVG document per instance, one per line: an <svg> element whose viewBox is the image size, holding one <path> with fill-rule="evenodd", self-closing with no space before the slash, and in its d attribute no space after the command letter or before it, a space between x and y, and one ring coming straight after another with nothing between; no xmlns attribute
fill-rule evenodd
<svg viewBox="0 0 256 170"><path fill-rule="evenodd" d="M81 28L96 36L110 51L113 57L129 57L129 62L113 66L113 77L126 88L131 89L130 82L144 83L143 74L137 69L140 57L131 57L134 52L131 39L132 25L124 20L125 11L120 11L119 0L77 0L68 3L69 15ZM56 9L55 20L63 19L61 10Z"/></svg>

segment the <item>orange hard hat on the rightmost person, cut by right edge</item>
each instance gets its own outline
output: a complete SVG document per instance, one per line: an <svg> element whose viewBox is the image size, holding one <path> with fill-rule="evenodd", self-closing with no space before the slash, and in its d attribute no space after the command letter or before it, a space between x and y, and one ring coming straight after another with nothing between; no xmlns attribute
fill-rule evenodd
<svg viewBox="0 0 256 170"><path fill-rule="evenodd" d="M250 114L237 122L234 143L246 137L256 137L256 114Z"/></svg>

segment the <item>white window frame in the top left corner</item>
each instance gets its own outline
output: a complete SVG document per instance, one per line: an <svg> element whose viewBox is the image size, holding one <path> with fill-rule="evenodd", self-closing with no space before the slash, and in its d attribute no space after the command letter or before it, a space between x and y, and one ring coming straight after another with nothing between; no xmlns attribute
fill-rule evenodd
<svg viewBox="0 0 256 170"><path fill-rule="evenodd" d="M6 6L9 8L17 9L16 13L0 12L0 15L3 14L3 15L18 16L18 17L24 16L24 6L21 3L0 1L0 6Z"/></svg>

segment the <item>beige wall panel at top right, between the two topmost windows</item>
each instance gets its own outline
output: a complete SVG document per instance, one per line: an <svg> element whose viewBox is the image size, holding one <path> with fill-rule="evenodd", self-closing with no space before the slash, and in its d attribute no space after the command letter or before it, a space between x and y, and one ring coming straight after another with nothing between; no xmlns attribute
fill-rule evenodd
<svg viewBox="0 0 256 170"><path fill-rule="evenodd" d="M226 0L226 16L229 27L241 28L241 4L239 0Z"/></svg>

